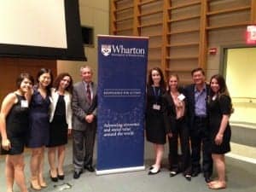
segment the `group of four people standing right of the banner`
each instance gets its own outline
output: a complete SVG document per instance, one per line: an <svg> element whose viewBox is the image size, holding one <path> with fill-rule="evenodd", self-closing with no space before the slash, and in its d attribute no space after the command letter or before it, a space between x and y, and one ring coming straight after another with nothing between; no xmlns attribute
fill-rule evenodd
<svg viewBox="0 0 256 192"><path fill-rule="evenodd" d="M153 143L155 152L154 165L150 166L148 175L160 172L168 138L170 177L183 172L190 181L203 172L210 189L224 189L224 154L230 151L229 118L233 112L229 91L219 74L212 76L210 84L206 83L200 67L191 75L194 84L180 87L177 74L171 74L166 84L159 67L148 73L146 137ZM181 154L178 154L178 144ZM218 173L214 180L212 164Z"/></svg>

